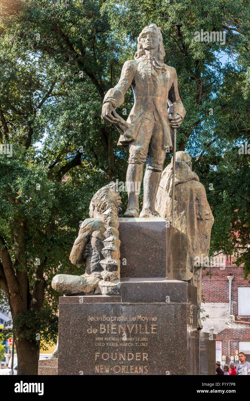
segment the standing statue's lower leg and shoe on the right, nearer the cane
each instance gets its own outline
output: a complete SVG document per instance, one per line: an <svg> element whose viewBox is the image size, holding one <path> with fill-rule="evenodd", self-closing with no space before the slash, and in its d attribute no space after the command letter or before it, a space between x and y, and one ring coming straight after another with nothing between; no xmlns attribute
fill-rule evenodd
<svg viewBox="0 0 250 401"><path fill-rule="evenodd" d="M143 207L139 217L159 216L155 210L155 198L160 180L161 171L146 168L143 180Z"/></svg>

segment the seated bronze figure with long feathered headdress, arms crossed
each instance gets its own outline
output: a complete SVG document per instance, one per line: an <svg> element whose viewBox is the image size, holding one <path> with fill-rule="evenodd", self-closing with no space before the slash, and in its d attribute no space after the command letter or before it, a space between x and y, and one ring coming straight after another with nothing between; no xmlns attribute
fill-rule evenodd
<svg viewBox="0 0 250 401"><path fill-rule="evenodd" d="M71 250L74 265L83 265L81 276L58 274L52 288L65 295L119 294L121 197L111 183L99 189L89 206L90 219L83 221Z"/></svg>

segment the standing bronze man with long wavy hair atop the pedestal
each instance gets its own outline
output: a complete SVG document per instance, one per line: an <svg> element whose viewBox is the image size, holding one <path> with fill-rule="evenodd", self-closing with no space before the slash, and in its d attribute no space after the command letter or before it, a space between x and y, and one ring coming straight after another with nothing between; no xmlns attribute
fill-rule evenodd
<svg viewBox="0 0 250 401"><path fill-rule="evenodd" d="M139 188L145 162L140 217L159 216L155 211L155 197L166 151L169 152L173 147L171 128L179 128L185 116L178 93L176 71L163 62L165 51L159 28L155 24L146 26L137 42L135 60L124 63L121 78L106 93L102 110L102 119L114 124L121 134L117 145L129 151L126 177L128 205L124 217L139 216ZM126 122L115 109L123 103L130 85L135 101ZM174 102L177 103L175 117L171 114ZM169 113L167 103L170 106Z"/></svg>

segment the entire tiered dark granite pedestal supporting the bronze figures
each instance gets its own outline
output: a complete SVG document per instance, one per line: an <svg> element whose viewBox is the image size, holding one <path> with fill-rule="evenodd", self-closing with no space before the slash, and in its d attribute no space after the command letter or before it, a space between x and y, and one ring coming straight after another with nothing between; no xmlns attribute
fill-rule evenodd
<svg viewBox="0 0 250 401"><path fill-rule="evenodd" d="M119 233L121 294L59 298L58 375L213 375L181 233L161 218L120 219Z"/></svg>

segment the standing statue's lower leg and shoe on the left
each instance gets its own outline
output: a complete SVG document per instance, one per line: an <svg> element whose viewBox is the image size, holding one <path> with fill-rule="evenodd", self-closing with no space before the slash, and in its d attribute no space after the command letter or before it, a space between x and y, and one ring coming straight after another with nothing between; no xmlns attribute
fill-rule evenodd
<svg viewBox="0 0 250 401"><path fill-rule="evenodd" d="M142 176L143 164L129 163L126 175L129 201L123 217L139 217L139 193Z"/></svg>

